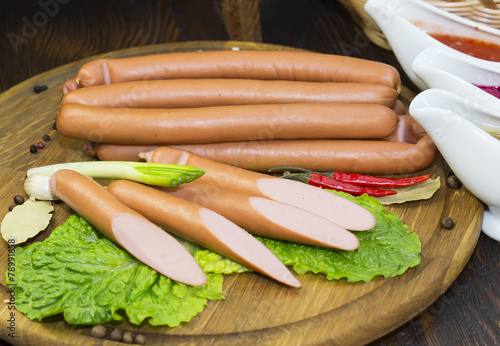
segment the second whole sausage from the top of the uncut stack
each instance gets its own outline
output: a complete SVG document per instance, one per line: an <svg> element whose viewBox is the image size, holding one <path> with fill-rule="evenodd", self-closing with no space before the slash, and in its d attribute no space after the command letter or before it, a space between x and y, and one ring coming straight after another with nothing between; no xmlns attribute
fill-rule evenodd
<svg viewBox="0 0 500 346"><path fill-rule="evenodd" d="M269 103L375 103L392 107L398 92L382 84L173 79L80 88L62 103L112 108L192 108Z"/></svg>

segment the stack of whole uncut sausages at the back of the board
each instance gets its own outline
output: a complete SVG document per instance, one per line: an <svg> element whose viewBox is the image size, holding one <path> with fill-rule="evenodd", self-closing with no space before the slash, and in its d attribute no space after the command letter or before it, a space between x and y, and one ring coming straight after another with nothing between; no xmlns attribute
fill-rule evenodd
<svg viewBox="0 0 500 346"><path fill-rule="evenodd" d="M415 130L387 64L295 51L206 51L83 65L68 80L61 134L101 160L173 146L249 170L408 173L437 149ZM409 134L402 135L403 133Z"/></svg>

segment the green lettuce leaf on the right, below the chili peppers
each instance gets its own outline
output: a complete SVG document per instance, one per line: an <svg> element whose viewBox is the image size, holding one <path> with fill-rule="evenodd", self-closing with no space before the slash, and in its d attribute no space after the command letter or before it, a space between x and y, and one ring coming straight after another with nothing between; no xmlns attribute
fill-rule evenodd
<svg viewBox="0 0 500 346"><path fill-rule="evenodd" d="M387 212L374 197L329 190L370 210L377 219L372 230L353 232L360 246L354 251L315 247L259 238L283 263L298 274L323 273L328 280L346 278L348 282L372 280L403 274L420 263L421 243L416 233L392 212Z"/></svg>

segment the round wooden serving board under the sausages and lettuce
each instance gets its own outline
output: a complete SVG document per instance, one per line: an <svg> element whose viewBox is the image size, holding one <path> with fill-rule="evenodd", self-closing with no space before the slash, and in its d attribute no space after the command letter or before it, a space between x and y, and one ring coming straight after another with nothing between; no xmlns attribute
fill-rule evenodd
<svg viewBox="0 0 500 346"><path fill-rule="evenodd" d="M164 52L232 49L293 50L290 47L242 42L186 42L108 53L99 57L125 57ZM25 196L26 171L35 166L59 162L86 161L82 142L60 136L52 128L62 97L61 86L74 77L86 61L77 61L33 77L0 95L2 136L0 137L0 187L3 219L15 195ZM35 85L48 90L36 94ZM36 154L29 146L48 134L52 140ZM301 289L288 288L255 273L225 278L225 300L209 301L191 322L177 328L133 326L123 329L143 333L148 344L364 344L409 321L435 301L459 275L476 246L483 215L482 204L466 189L451 189L445 184L448 174L444 160L418 173L440 177L441 189L432 199L388 206L398 214L422 242L422 261L399 277L376 278L368 283L348 284L345 280L327 281L323 275L300 277ZM25 196L26 197L26 196ZM55 215L46 231L33 241L43 240L71 213L54 203ZM451 217L456 226L441 228L440 220ZM1 298L10 298L4 273L7 246L2 241L0 262ZM111 345L111 340L90 336L90 327L72 326L61 316L42 323L15 314L15 339L7 335L10 312L5 304L0 311L0 338L22 345Z"/></svg>

